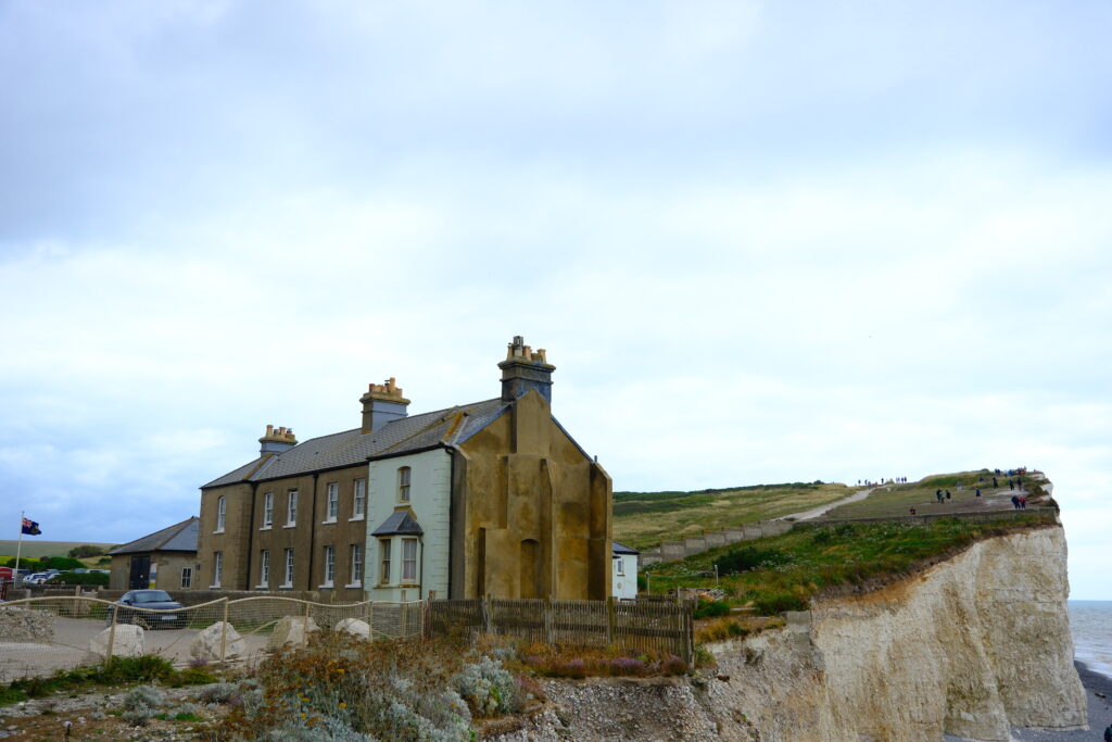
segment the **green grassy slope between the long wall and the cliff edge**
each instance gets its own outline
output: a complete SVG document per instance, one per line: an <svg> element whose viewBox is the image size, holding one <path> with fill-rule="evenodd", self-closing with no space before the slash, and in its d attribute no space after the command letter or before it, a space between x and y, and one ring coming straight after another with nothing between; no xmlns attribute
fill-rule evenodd
<svg viewBox="0 0 1112 742"><path fill-rule="evenodd" d="M803 610L824 592L912 574L979 540L1043 525L1034 513L1020 520L987 522L945 518L927 524L831 524L714 548L682 562L654 564L645 573L654 593L678 586L709 587L714 578L705 573L717 562L721 586L732 604L752 605L757 614L774 615ZM726 574L727 562L742 571ZM701 572L704 576L692 576Z"/></svg>

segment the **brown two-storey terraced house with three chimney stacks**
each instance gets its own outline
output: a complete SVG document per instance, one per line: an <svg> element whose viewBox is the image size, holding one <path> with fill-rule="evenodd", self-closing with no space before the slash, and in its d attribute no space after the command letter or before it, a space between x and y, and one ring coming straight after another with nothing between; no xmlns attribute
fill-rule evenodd
<svg viewBox="0 0 1112 742"><path fill-rule="evenodd" d="M543 349L508 345L502 394L419 415L390 378L358 428L258 457L201 487L198 587L324 600L610 594L610 478L552 415Z"/></svg>

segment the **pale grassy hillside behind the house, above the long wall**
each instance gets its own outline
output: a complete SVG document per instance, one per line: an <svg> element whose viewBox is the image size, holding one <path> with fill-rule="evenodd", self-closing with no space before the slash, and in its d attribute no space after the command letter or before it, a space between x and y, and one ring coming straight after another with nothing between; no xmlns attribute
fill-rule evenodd
<svg viewBox="0 0 1112 742"><path fill-rule="evenodd" d="M753 485L696 492L614 493L614 538L644 550L704 530L757 523L826 505L856 488L843 484Z"/></svg>

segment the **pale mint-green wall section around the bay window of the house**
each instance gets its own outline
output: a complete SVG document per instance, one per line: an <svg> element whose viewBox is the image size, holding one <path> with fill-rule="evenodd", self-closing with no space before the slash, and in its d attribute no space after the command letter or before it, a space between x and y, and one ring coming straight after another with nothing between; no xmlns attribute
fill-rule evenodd
<svg viewBox="0 0 1112 742"><path fill-rule="evenodd" d="M370 533L396 507L404 504L398 498L398 469L410 469L408 507L425 532L419 538L419 586L401 586L401 560L397 542L391 547L390 583L381 581L381 546ZM438 597L448 596L449 571L449 514L451 495L451 455L444 448L426 451L409 456L398 456L370 462L371 506L367 520L366 581L368 596L375 601L426 598L429 592Z"/></svg>

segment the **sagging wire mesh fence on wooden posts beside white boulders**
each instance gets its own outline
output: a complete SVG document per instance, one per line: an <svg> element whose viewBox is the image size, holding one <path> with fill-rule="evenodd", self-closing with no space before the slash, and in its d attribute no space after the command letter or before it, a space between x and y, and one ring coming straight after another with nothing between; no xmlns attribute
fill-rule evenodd
<svg viewBox="0 0 1112 742"><path fill-rule="evenodd" d="M0 683L103 662L157 654L190 662L261 659L304 645L321 629L368 639L425 632L425 604L311 603L289 597L220 598L175 610L123 606L95 597L36 597L0 606Z"/></svg>

